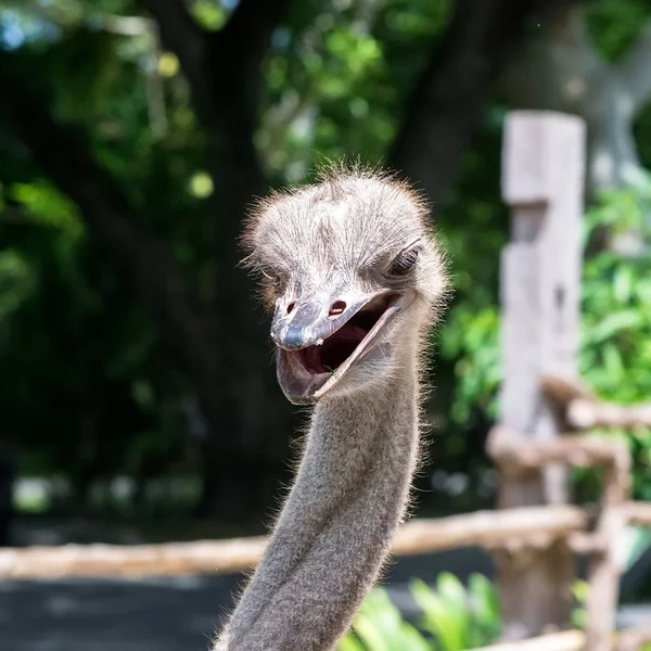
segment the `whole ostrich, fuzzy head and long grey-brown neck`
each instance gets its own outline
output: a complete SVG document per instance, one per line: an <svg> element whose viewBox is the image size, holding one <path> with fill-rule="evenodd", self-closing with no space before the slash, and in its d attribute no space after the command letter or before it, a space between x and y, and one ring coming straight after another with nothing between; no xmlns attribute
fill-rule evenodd
<svg viewBox="0 0 651 651"><path fill-rule="evenodd" d="M419 374L446 281L427 208L363 169L258 204L243 238L275 310L277 374L314 404L296 478L213 651L327 651L378 578L405 516Z"/></svg>

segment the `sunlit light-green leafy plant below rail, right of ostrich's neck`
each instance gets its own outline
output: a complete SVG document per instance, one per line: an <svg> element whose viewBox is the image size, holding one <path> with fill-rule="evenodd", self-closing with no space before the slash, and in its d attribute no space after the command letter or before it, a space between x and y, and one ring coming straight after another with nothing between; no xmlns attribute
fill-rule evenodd
<svg viewBox="0 0 651 651"><path fill-rule="evenodd" d="M465 588L443 573L436 590L416 579L411 592L423 613L418 628L401 618L384 589L375 588L339 651L463 651L488 644L499 634L497 592L485 576L473 574Z"/></svg>

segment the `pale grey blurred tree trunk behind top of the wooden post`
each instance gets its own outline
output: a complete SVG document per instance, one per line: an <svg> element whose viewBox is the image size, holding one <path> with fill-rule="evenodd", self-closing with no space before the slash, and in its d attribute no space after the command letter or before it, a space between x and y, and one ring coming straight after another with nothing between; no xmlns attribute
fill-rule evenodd
<svg viewBox="0 0 651 651"><path fill-rule="evenodd" d="M620 62L609 64L592 42L585 12L579 2L559 12L507 71L503 87L516 108L558 111L586 120L590 200L602 190L624 188L648 196L651 180L638 156L633 123L651 94L651 24ZM639 253L644 246L641 229L630 228L607 245Z"/></svg>

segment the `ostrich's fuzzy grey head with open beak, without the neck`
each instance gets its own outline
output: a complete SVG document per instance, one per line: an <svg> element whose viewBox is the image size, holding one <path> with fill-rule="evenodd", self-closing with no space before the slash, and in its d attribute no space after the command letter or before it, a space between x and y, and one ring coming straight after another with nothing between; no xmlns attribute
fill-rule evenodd
<svg viewBox="0 0 651 651"><path fill-rule="evenodd" d="M368 387L400 368L445 290L426 218L408 186L359 170L258 204L246 263L273 309L278 380L292 403Z"/></svg>

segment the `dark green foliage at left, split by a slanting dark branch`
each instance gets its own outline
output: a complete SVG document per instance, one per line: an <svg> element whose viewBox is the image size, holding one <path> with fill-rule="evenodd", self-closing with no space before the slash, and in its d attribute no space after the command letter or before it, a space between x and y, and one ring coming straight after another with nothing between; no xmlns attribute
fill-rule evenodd
<svg viewBox="0 0 651 651"><path fill-rule="evenodd" d="M55 119L75 124L107 178L141 209L138 226L167 240L207 293L212 180L178 66L164 59L162 77L153 78L155 39L140 29L144 22L123 33L123 18L140 20L130 0L8 7L0 41L21 34L16 16L29 27L12 53L16 71L48 93ZM157 90L165 129L154 119ZM137 484L193 477L201 441L187 435L183 411L192 390L155 318L89 235L77 206L10 137L1 133L0 145L0 354L12 378L0 392L0 444L18 444L22 472L69 482L79 501L92 483L119 474Z"/></svg>

